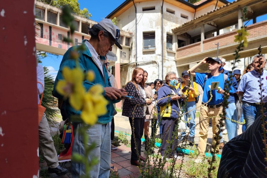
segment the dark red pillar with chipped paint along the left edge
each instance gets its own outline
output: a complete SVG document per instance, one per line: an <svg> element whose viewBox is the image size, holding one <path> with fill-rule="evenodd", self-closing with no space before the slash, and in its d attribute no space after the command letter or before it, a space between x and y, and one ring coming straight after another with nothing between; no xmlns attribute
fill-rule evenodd
<svg viewBox="0 0 267 178"><path fill-rule="evenodd" d="M0 177L37 177L34 0L1 3L0 39Z"/></svg>

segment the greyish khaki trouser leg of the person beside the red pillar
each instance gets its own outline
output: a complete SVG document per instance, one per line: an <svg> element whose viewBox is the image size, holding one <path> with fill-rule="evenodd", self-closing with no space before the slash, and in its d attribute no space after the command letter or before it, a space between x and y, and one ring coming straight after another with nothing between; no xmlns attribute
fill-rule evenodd
<svg viewBox="0 0 267 178"><path fill-rule="evenodd" d="M50 168L58 167L58 154L55 150L54 141L50 135L50 127L48 125L46 114L44 113L39 123L39 146L43 150L44 159Z"/></svg>

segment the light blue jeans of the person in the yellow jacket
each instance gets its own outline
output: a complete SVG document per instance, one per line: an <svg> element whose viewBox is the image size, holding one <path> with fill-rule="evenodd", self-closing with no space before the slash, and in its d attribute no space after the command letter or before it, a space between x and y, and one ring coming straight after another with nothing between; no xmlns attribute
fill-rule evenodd
<svg viewBox="0 0 267 178"><path fill-rule="evenodd" d="M187 121L188 118L191 118L189 120L189 136L195 136L195 130L196 130L196 122L195 122L195 117L196 117L196 102L195 101L190 101L187 102L187 105L185 106L185 112L193 109L192 111L188 112L185 114L185 121ZM185 128L187 128L187 124L185 123ZM186 132L181 132L181 136L185 136Z"/></svg>

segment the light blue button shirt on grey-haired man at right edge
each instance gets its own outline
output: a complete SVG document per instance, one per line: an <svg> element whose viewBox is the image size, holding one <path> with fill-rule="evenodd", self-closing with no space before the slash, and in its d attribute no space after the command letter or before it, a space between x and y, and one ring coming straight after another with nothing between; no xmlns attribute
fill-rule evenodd
<svg viewBox="0 0 267 178"><path fill-rule="evenodd" d="M244 98L243 101L247 101L249 103L257 103L260 102L260 82L258 82L260 79L259 73L255 70L248 72L247 74L243 75L241 78L240 84L238 86L237 91L244 92ZM261 75L262 80L262 89L264 91L262 92L263 102L267 102L267 71L263 70L263 74Z"/></svg>

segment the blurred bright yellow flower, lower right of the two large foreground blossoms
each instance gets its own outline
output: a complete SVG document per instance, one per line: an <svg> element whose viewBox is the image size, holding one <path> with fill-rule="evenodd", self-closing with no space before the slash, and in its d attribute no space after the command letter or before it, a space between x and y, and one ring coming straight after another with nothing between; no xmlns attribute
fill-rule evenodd
<svg viewBox="0 0 267 178"><path fill-rule="evenodd" d="M103 91L101 85L94 85L85 94L81 118L86 124L95 124L99 116L107 113L108 101L102 95Z"/></svg>

